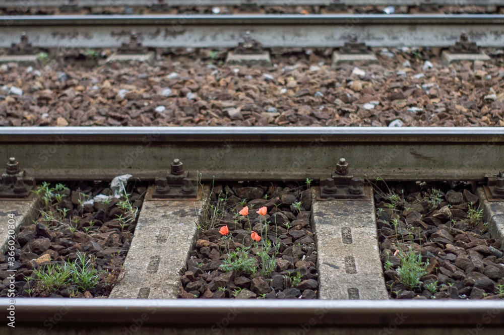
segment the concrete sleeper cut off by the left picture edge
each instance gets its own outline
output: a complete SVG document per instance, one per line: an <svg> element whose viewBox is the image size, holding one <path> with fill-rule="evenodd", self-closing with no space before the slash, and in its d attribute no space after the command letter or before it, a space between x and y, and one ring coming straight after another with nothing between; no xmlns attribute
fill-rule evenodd
<svg viewBox="0 0 504 335"><path fill-rule="evenodd" d="M17 234L21 226L31 224L37 218L38 209L36 196L29 200L0 200L0 252L5 253L9 239L9 215L14 215L14 230Z"/></svg>

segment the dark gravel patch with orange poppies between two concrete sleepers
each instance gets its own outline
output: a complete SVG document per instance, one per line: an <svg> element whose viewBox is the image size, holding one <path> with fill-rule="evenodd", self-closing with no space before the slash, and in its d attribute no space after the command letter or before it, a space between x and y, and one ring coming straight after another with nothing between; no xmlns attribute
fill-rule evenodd
<svg viewBox="0 0 504 335"><path fill-rule="evenodd" d="M214 187L179 298L316 298L310 207L305 185Z"/></svg>

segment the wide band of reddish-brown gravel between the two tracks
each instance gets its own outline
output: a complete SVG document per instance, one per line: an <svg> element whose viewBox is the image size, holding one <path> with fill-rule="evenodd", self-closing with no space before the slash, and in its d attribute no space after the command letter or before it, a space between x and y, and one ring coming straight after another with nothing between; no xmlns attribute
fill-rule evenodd
<svg viewBox="0 0 504 335"><path fill-rule="evenodd" d="M226 65L207 49L150 64L76 61L85 50L2 64L0 125L504 126L501 50L448 67L430 49L374 51L380 64L336 69L330 49L277 50L271 66Z"/></svg>

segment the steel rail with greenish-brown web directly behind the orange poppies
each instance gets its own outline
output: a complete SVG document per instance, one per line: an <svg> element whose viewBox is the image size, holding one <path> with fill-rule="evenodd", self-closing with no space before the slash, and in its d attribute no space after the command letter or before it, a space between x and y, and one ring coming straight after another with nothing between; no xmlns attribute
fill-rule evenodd
<svg viewBox="0 0 504 335"><path fill-rule="evenodd" d="M358 177L481 181L504 167L504 128L0 128L0 162L12 156L39 180L153 180L175 158L203 180L319 179L343 157Z"/></svg>

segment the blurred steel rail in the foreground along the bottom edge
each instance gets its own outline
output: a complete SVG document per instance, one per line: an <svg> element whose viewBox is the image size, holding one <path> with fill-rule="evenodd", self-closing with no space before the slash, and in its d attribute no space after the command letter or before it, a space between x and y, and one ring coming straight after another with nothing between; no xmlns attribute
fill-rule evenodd
<svg viewBox="0 0 504 335"><path fill-rule="evenodd" d="M0 318L6 319L9 298L0 298ZM66 309L60 325L130 324L148 313L145 325L205 327L221 321L230 311L231 326L293 326L317 318L317 326L370 327L394 323L397 313L407 327L475 326L482 316L495 313L489 327L504 326L504 300L157 300L157 299L51 299L15 298L16 323L40 324ZM322 317L320 317L322 315ZM2 326L5 326L3 322Z"/></svg>

